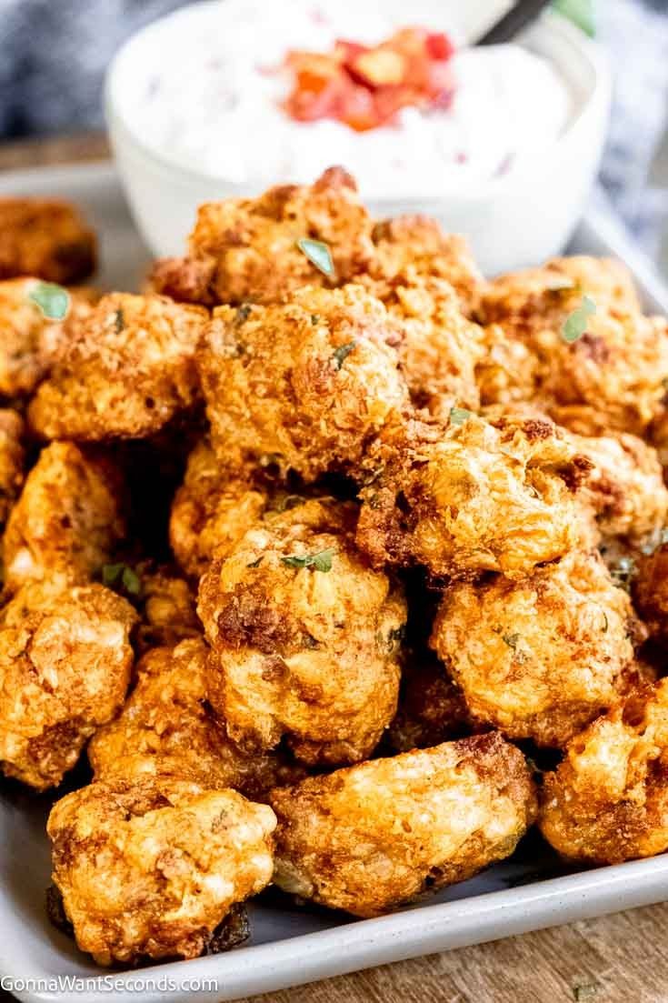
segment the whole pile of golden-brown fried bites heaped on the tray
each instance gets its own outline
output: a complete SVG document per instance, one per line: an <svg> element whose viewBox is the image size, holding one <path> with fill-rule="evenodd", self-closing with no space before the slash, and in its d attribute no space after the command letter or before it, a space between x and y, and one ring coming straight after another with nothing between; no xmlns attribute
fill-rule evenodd
<svg viewBox="0 0 668 1003"><path fill-rule="evenodd" d="M87 752L83 951L220 950L270 883L377 916L535 822L668 848L668 327L623 268L485 281L341 169L203 206L143 295L51 284L68 207L0 231L0 766Z"/></svg>

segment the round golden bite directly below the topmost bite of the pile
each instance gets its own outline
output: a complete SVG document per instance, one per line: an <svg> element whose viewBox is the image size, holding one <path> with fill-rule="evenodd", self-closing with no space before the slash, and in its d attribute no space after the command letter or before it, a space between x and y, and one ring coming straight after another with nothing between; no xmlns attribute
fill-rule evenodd
<svg viewBox="0 0 668 1003"><path fill-rule="evenodd" d="M396 326L359 286L215 310L199 364L217 454L271 456L307 480L354 467L408 402Z"/></svg>

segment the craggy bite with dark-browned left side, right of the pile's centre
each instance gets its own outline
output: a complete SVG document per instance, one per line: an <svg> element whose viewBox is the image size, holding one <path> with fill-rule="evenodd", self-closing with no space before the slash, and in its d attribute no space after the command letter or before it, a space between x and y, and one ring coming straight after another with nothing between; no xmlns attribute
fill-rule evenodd
<svg viewBox="0 0 668 1003"><path fill-rule="evenodd" d="M581 457L551 421L471 415L392 433L368 451L361 492L357 543L375 567L522 578L578 543Z"/></svg>

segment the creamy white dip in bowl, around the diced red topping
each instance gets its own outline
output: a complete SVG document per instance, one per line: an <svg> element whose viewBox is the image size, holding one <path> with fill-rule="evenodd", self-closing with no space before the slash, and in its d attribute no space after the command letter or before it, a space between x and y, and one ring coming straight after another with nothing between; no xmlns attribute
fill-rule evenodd
<svg viewBox="0 0 668 1003"><path fill-rule="evenodd" d="M555 68L520 45L457 51L449 107L405 107L391 125L365 132L333 119L296 121L282 107L289 50L327 52L340 38L376 44L407 17L456 41L456 25L444 24L441 12L435 20L437 9L413 2L406 11L403 0L198 4L158 26L121 110L163 158L256 188L309 182L341 163L362 194L437 196L531 170L567 125L573 102Z"/></svg>

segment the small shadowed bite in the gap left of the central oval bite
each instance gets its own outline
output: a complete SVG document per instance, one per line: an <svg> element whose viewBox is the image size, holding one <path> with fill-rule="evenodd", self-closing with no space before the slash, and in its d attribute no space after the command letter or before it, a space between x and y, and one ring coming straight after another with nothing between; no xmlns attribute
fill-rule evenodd
<svg viewBox="0 0 668 1003"><path fill-rule="evenodd" d="M171 648L188 638L201 637L197 597L188 582L170 568L149 562L138 565L135 574L141 616L135 637L138 651Z"/></svg>

